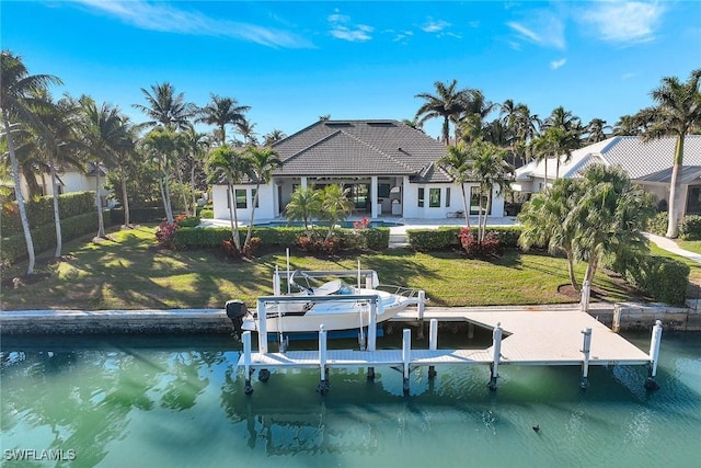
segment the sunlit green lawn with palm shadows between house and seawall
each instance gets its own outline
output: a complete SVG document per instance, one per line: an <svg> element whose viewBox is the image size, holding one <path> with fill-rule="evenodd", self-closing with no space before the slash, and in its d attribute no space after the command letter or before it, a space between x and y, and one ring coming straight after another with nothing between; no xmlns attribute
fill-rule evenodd
<svg viewBox="0 0 701 468"><path fill-rule="evenodd" d="M161 252L153 227L111 233L112 240L73 242L72 258L42 266L48 278L19 288L4 287L2 309L164 309L220 308L239 298L249 306L269 295L275 265L285 269L284 252L251 262L231 262L218 251ZM459 253L417 253L403 249L329 260L294 254L292 269L377 270L380 282L426 290L435 306L485 306L573 303L560 294L568 284L564 259L508 251L495 261L469 260ZM14 274L21 274L18 271ZM584 266L577 271L583 276ZM3 274L8 277L8 274ZM597 274L595 290L606 300L628 299L620 282Z"/></svg>

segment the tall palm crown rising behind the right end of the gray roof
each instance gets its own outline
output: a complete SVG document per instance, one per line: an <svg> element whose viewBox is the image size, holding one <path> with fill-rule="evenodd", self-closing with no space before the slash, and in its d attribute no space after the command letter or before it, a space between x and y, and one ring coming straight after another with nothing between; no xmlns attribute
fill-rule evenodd
<svg viewBox="0 0 701 468"><path fill-rule="evenodd" d="M449 83L436 81L434 87L436 89L436 94L420 93L415 95L415 98L426 101L421 107L418 107L418 111L416 111L415 118L422 116L417 121L418 126L422 126L430 118L443 118L441 137L444 142L449 145L450 122L458 122L460 113L466 110L469 94L472 90L458 90L458 80L452 80Z"/></svg>

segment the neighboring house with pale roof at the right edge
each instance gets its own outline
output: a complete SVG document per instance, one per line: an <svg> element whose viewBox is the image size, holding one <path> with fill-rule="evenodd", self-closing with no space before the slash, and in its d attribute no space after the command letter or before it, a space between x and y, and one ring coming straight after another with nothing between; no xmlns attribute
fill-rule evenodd
<svg viewBox="0 0 701 468"><path fill-rule="evenodd" d="M675 137L644 142L639 137L612 137L572 151L564 162L560 158L560 178L579 176L582 170L594 163L621 165L631 180L657 197L657 206L666 209L669 198L671 168L675 159ZM701 214L701 135L688 135L683 146L683 168L680 174L680 215ZM548 181L555 180L555 158L548 159ZM544 160L531 161L516 170L512 187L521 192L539 192L545 185Z"/></svg>

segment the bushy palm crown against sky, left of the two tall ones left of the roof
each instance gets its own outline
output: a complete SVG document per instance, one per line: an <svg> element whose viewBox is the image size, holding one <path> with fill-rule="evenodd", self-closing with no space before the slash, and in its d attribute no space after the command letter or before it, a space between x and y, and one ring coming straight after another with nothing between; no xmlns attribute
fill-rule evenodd
<svg viewBox="0 0 701 468"><path fill-rule="evenodd" d="M175 94L175 88L169 82L152 84L151 92L141 88L148 105L134 104L134 107L143 112L149 122L143 126L163 125L169 129L187 129L188 118L193 115L193 106L185 103L183 93Z"/></svg>

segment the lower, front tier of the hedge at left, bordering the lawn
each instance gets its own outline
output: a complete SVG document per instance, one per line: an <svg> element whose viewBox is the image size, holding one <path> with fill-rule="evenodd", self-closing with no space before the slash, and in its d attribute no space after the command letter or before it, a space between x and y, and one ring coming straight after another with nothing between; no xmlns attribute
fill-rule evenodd
<svg viewBox="0 0 701 468"><path fill-rule="evenodd" d="M112 222L110 212L103 212L103 217L105 226L110 226ZM31 232L35 252L43 252L56 247L56 227L54 221L32 229ZM64 242L90 232L97 233L97 212L94 209L82 215L61 219L61 239ZM0 265L10 265L26 258L26 242L24 241L23 232L2 238Z"/></svg>

